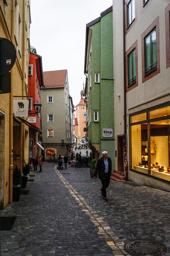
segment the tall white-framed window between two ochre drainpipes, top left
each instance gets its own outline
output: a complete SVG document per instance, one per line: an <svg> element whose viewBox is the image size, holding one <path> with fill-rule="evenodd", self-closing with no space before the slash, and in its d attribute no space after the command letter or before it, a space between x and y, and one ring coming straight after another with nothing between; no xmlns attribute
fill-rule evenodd
<svg viewBox="0 0 170 256"><path fill-rule="evenodd" d="M15 0L14 38L21 58L22 20L18 0Z"/></svg>

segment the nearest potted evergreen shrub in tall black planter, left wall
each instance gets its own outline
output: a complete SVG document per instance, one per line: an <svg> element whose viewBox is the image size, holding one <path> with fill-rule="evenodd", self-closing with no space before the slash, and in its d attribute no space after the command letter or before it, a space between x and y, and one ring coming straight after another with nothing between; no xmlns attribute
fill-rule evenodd
<svg viewBox="0 0 170 256"><path fill-rule="evenodd" d="M21 183L22 183L21 171L16 165L13 170L13 201L14 202L20 200Z"/></svg>

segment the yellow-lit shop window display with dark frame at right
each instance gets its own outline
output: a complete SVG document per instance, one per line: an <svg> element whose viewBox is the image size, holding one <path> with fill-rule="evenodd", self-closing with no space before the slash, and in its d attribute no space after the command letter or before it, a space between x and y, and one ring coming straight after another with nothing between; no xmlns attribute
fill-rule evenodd
<svg viewBox="0 0 170 256"><path fill-rule="evenodd" d="M170 102L129 118L130 171L170 182Z"/></svg>

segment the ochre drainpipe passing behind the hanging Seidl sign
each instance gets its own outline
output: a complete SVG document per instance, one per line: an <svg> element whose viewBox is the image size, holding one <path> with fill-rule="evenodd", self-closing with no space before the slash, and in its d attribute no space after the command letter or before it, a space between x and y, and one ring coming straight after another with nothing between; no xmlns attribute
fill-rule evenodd
<svg viewBox="0 0 170 256"><path fill-rule="evenodd" d="M24 15L23 15L23 54L22 54L22 95L25 95L25 31L26 31L26 21L25 21L25 1L24 1ZM24 99L24 97L23 97ZM25 124L22 123L22 168L25 165L25 154L24 154L24 148L25 148Z"/></svg>

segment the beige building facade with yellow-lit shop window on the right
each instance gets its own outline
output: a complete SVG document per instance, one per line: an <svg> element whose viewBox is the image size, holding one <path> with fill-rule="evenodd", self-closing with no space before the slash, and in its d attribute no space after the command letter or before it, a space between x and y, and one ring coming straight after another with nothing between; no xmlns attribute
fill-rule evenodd
<svg viewBox="0 0 170 256"><path fill-rule="evenodd" d="M115 170L170 191L170 1L123 2L113 0Z"/></svg>

